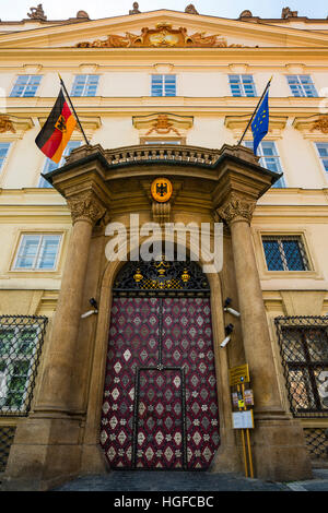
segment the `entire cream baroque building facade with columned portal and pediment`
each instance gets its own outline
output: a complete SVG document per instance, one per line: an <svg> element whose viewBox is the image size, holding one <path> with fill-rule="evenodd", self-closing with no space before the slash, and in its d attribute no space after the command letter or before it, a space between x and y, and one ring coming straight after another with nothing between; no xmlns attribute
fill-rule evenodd
<svg viewBox="0 0 328 513"><path fill-rule="evenodd" d="M110 468L243 470L230 371L244 363L256 477L302 479L327 461L327 31L289 8L227 20L137 3L0 22L7 488ZM58 72L89 144L77 126L55 165L35 138ZM271 76L255 156L250 130L238 142ZM129 259L137 217L212 236L221 223L222 269L202 272L191 235L183 262ZM114 262L109 223L130 241Z"/></svg>

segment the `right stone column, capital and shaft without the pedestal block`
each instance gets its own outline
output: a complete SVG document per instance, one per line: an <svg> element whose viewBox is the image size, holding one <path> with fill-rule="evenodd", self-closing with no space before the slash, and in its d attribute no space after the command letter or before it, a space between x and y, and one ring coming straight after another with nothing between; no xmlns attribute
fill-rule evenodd
<svg viewBox="0 0 328 513"><path fill-rule="evenodd" d="M253 371L256 411L282 411L262 290L250 234L254 200L232 193L219 210L230 226L246 361Z"/></svg>

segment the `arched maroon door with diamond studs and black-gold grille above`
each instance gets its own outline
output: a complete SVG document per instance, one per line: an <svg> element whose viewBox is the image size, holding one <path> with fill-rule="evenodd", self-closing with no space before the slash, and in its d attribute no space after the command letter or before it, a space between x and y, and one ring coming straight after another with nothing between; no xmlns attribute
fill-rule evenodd
<svg viewBox="0 0 328 513"><path fill-rule="evenodd" d="M101 422L112 468L211 464L220 437L210 287L195 262L129 262L119 272Z"/></svg>

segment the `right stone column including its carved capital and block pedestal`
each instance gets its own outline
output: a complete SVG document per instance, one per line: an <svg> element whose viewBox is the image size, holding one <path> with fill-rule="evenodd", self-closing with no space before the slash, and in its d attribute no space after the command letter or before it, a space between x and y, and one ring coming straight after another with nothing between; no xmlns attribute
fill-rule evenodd
<svg viewBox="0 0 328 513"><path fill-rule="evenodd" d="M246 362L255 397L253 437L256 477L304 479L309 458L303 430L283 410L278 375L253 248L250 220L256 200L231 191L218 210L231 229Z"/></svg>

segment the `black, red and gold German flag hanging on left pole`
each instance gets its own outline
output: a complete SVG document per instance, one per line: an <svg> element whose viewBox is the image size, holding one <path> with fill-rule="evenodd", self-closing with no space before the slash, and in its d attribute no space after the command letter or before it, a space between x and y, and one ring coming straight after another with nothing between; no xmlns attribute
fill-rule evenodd
<svg viewBox="0 0 328 513"><path fill-rule="evenodd" d="M36 145L47 157L59 164L75 124L77 120L60 90L56 104L35 140Z"/></svg>

